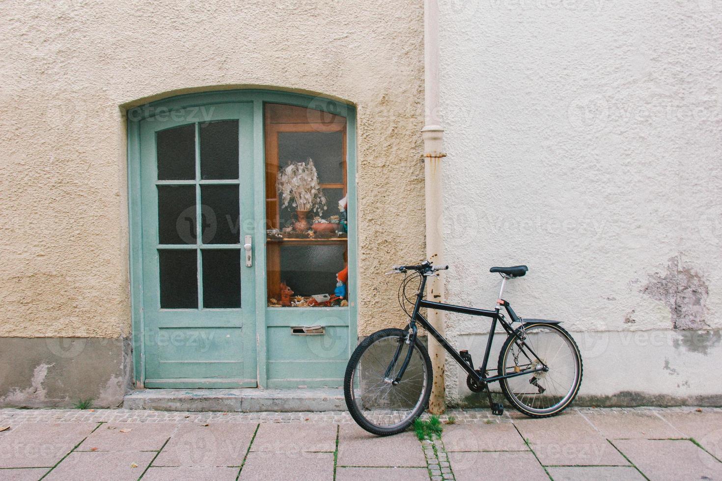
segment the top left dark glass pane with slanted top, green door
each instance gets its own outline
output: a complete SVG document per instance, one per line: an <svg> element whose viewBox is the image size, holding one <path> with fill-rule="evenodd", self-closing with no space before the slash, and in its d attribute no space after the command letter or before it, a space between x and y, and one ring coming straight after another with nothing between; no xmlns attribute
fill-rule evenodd
<svg viewBox="0 0 722 481"><path fill-rule="evenodd" d="M158 180L196 178L196 125L169 128L156 134Z"/></svg>

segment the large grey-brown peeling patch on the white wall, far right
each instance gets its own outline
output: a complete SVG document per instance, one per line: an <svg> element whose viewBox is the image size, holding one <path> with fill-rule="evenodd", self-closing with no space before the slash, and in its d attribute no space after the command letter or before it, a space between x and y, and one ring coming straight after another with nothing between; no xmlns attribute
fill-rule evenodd
<svg viewBox="0 0 722 481"><path fill-rule="evenodd" d="M705 303L709 294L707 282L700 273L684 265L680 256L669 259L666 273L650 275L641 292L664 302L671 314L674 329L705 329Z"/></svg>

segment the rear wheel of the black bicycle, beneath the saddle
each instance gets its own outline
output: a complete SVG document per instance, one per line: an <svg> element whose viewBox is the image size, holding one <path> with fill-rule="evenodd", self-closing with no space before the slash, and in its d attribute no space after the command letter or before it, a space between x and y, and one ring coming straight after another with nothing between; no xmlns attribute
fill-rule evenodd
<svg viewBox="0 0 722 481"><path fill-rule="evenodd" d="M517 330L520 332L521 328ZM536 371L547 366L547 371ZM532 371L524 374L526 371ZM582 358L572 336L554 324L523 327L523 342L510 335L499 354L501 389L516 409L531 418L559 414L570 405L582 382Z"/></svg>

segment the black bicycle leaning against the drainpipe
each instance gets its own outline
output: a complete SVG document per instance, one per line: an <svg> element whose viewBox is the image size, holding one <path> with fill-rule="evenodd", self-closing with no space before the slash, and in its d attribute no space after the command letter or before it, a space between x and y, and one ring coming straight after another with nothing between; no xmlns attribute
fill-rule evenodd
<svg viewBox="0 0 722 481"><path fill-rule="evenodd" d="M500 402L493 402L489 390L489 384L495 381L499 381L510 405L532 418L546 418L565 410L576 397L582 380L582 358L577 344L559 325L560 321L522 319L503 299L506 281L525 275L526 265L490 269L491 273L502 276L493 310L424 299L427 278L438 276L438 271L446 269L448 265L434 267L427 260L419 265L395 265L389 272L405 274L399 286L399 304L409 316L409 324L403 330L374 332L352 353L344 376L344 397L356 423L370 433L388 436L406 430L426 409L432 387L432 366L425 346L417 337L417 324L466 371L466 385L472 392L487 393L493 414L504 412ZM419 281L417 292L409 296L406 288L416 280ZM413 305L412 312L406 309L404 301ZM429 324L419 312L424 308L492 319L478 369L474 369L468 350L457 352ZM509 319L501 312L502 308ZM500 350L497 368L489 369L487 364L497 323L504 328L507 338Z"/></svg>

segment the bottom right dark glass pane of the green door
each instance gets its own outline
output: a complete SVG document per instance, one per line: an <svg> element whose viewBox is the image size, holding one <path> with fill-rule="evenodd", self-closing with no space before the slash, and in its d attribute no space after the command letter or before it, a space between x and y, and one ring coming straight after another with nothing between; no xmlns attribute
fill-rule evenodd
<svg viewBox="0 0 722 481"><path fill-rule="evenodd" d="M240 307L240 250L204 249L203 306Z"/></svg>

